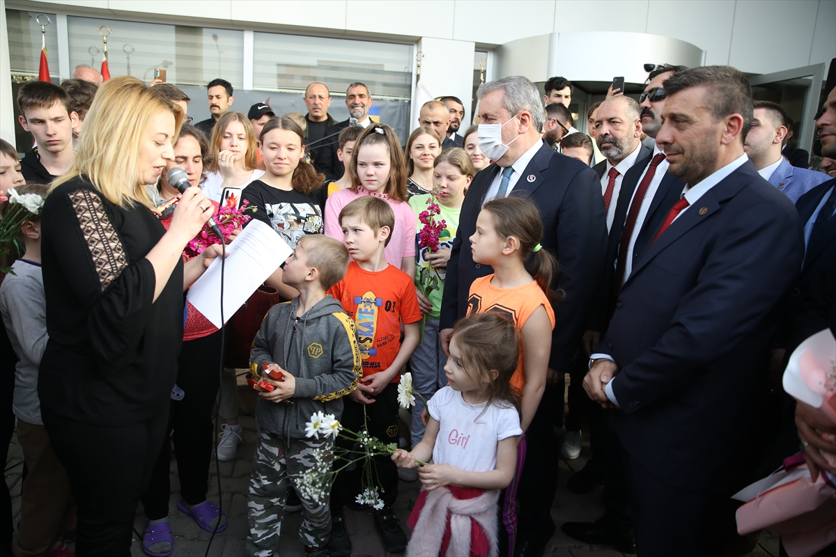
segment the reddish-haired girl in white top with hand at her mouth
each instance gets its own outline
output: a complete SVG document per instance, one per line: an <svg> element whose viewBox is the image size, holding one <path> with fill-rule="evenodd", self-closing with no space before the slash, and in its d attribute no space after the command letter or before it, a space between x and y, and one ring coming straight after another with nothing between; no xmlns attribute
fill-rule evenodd
<svg viewBox="0 0 836 557"><path fill-rule="evenodd" d="M217 121L209 139L206 180L201 190L212 201L221 202L224 188L246 188L264 174L258 170L256 134L242 112L230 110Z"/></svg>

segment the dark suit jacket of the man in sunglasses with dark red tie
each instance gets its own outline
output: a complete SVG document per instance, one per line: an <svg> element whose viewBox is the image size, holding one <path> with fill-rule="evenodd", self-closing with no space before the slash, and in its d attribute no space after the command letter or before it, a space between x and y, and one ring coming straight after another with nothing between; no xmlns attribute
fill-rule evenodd
<svg viewBox="0 0 836 557"><path fill-rule="evenodd" d="M624 221L627 220L627 212L630 210L630 198L632 198L633 192L638 187L641 176L647 166L650 165L651 160L653 160L653 151L648 149L647 156L637 160L635 165L624 173L619 199L617 205L615 205L613 226L609 229L606 276L601 293L595 302L595 310L590 316L587 325L587 328L592 331L606 331L609 318L613 315L613 311L615 311L615 264L619 257L621 232L624 230ZM645 249L645 246L647 246L649 239L655 236L656 230L659 230L670 208L680 199L682 190L684 189L685 182L675 175L665 173L659 187L656 189L653 200L650 201L650 207L647 210L644 222L637 223L640 229L639 235L635 239L635 246L633 246L634 265L639 260L639 256Z"/></svg>

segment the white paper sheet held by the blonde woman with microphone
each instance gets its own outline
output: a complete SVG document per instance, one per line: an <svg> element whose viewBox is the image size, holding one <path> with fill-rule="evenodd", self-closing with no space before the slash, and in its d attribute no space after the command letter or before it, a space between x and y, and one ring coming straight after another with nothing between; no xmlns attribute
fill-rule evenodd
<svg viewBox="0 0 836 557"><path fill-rule="evenodd" d="M227 321L252 296L258 286L293 253L288 243L261 220L247 228L227 246L223 282L223 317ZM186 296L215 327L221 327L221 258L191 285Z"/></svg>

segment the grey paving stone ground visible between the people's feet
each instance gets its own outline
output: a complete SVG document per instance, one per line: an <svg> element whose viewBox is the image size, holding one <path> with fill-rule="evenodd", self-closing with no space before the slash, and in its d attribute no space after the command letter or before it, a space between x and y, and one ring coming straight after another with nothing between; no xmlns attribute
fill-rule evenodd
<svg viewBox="0 0 836 557"><path fill-rule="evenodd" d="M229 526L212 539L209 548L209 555L223 557L242 557L244 555L244 543L247 539L247 481L252 470L252 456L255 452L256 430L255 418L252 415L255 399L254 394L247 387L239 388L239 400L241 402L242 415L240 422L243 429L244 443L239 446L237 458L232 462L218 463L221 476L222 508L229 517ZM586 436L584 436L586 437ZM555 440L555 454L559 453L560 441ZM566 481L571 473L584 466L589 458L589 443L584 438L584 448L580 458L571 461L558 461L558 489L555 494L552 506L552 517L555 524L558 524L556 533L549 539L545 549L545 555L553 557L619 557L618 551L604 545L589 545L571 539L564 535L559 525L572 520L592 521L603 514L604 507L600 503L601 488L595 489L592 493L577 495L568 492ZM17 524L20 519L20 475L23 453L18 445L17 436L12 440L9 448L8 462L6 468L6 483L13 497L14 521ZM209 482L209 499L217 504L217 473L215 462L212 461L211 479ZM400 517L401 524L406 524L410 509L418 496L420 482L400 482L400 494L395 504L395 514ZM206 546L212 534L208 534L197 527L194 520L177 510L180 481L177 478L177 464L171 461L171 532L175 537L175 551L173 557L200 557L206 554ZM355 557L384 556L388 555L380 544L380 539L375 530L374 519L371 510L345 509L347 528L351 536ZM279 554L283 557L303 557L304 549L298 539L298 527L301 522L299 513L291 513L286 516L282 526L281 544ZM137 509L135 519L135 530L142 532L145 529L145 514L142 506ZM17 535L17 534L16 534ZM683 543L687 543L686 540ZM70 544L72 548L72 544ZM131 555L143 557L141 536L135 535L131 545ZM671 553L675 555L675 550ZM747 557L777 557L777 536L762 533L757 547Z"/></svg>

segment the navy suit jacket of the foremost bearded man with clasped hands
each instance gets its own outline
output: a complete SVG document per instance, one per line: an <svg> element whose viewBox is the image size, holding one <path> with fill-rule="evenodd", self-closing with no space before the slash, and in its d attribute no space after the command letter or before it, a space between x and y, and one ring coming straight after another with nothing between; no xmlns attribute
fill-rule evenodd
<svg viewBox="0 0 836 557"><path fill-rule="evenodd" d="M619 365L622 445L661 481L732 487L783 292L801 265L793 209L747 161L649 245L624 283L595 352Z"/></svg>

